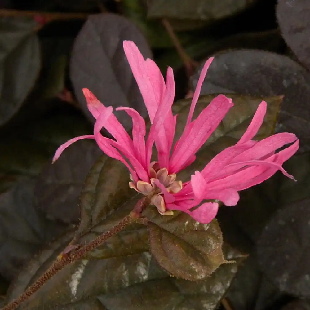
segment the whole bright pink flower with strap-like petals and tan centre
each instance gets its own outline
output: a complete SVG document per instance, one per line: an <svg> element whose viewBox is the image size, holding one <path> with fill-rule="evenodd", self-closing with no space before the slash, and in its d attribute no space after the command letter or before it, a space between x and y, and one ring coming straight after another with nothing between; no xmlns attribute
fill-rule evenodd
<svg viewBox="0 0 310 310"><path fill-rule="evenodd" d="M201 71L183 134L173 146L177 115L173 115L171 110L175 95L172 69L168 67L165 83L154 61L144 60L134 42L124 41L123 47L151 121L146 139L146 125L137 111L128 107L116 108L132 118L131 139L113 114L113 108L105 107L88 89L83 89L89 111L96 119L94 134L76 137L61 145L55 153L54 161L73 142L95 139L106 155L126 165L130 171L129 186L148 195L161 214L181 210L201 223L209 223L214 219L219 208L217 201L227 206L236 205L238 191L265 181L277 170L293 179L282 168L282 164L299 147L299 140L294 134L282 132L261 141L252 140L266 114L267 104L262 101L237 144L216 155L204 169L196 171L188 182L178 180L177 173L195 161L195 153L233 106L232 100L218 95L192 120L202 82L213 60L210 58ZM103 127L115 140L100 133ZM157 161L151 162L154 143ZM286 144L291 145L275 153ZM201 204L203 200L215 202Z"/></svg>

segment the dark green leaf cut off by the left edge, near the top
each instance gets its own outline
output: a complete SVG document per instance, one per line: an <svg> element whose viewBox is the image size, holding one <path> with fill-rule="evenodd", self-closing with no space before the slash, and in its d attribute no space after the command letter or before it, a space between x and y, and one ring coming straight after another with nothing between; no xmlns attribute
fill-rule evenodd
<svg viewBox="0 0 310 310"><path fill-rule="evenodd" d="M0 124L20 108L38 77L41 60L34 22L0 19Z"/></svg>

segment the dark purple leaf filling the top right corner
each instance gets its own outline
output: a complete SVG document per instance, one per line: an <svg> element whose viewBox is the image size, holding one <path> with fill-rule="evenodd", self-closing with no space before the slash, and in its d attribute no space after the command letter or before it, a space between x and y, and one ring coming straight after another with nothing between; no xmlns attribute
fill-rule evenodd
<svg viewBox="0 0 310 310"><path fill-rule="evenodd" d="M277 21L281 34L300 62L308 69L310 69L309 11L308 1L278 0Z"/></svg>

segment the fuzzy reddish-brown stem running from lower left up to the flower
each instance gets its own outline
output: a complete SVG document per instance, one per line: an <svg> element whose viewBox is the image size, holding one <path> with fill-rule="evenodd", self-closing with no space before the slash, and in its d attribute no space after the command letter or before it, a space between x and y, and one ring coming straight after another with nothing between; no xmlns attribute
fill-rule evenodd
<svg viewBox="0 0 310 310"><path fill-rule="evenodd" d="M108 238L117 234L123 230L128 224L140 223L147 224L147 219L141 218L140 212L143 208L148 205L149 199L145 197L140 199L136 204L133 211L126 215L118 224L110 228L108 231L102 233L100 236L96 237L94 240L86 243L84 246L73 246L66 247L66 249L58 255L57 259L51 264L50 268L44 272L37 281L35 281L31 286L24 291L18 298L14 299L6 306L0 310L13 310L16 309L21 303L27 300L31 295L33 295L41 286L43 286L48 280L50 280L55 274L62 270L65 266L73 263L74 261L81 259L86 255L87 252L94 250L98 246L102 245Z"/></svg>

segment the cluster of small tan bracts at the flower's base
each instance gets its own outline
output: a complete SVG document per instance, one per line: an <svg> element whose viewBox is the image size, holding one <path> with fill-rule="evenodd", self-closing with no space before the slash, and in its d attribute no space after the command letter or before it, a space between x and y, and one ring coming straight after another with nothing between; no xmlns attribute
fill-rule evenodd
<svg viewBox="0 0 310 310"><path fill-rule="evenodd" d="M151 203L157 207L162 215L172 214L171 210L166 210L166 203L163 197L163 191L174 194L178 193L182 188L182 181L176 181L176 174L168 174L167 168L161 168L158 162L152 162L150 165L150 183L138 181L136 184L132 180L129 187L137 192L151 198Z"/></svg>

